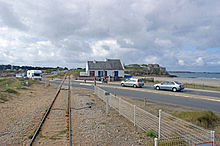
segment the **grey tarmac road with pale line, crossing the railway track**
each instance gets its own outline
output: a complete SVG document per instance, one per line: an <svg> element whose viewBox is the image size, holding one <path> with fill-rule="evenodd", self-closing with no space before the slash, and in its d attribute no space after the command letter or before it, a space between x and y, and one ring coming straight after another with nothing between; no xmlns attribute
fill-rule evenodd
<svg viewBox="0 0 220 146"><path fill-rule="evenodd" d="M52 84L59 84L59 80L50 81ZM86 88L93 90L93 82L72 81L72 87ZM120 96L135 97L149 101L168 103L179 106L198 108L201 110L211 110L220 113L220 92L202 89L185 89L182 92L156 91L150 85L144 88L121 87L117 84L102 84L97 82L97 86L104 90Z"/></svg>

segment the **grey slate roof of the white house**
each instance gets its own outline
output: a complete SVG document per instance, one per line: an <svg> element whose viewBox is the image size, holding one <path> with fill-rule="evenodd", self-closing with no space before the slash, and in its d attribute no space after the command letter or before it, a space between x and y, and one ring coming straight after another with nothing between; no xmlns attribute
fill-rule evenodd
<svg viewBox="0 0 220 146"><path fill-rule="evenodd" d="M106 61L88 61L89 70L124 70L120 59L106 59Z"/></svg>

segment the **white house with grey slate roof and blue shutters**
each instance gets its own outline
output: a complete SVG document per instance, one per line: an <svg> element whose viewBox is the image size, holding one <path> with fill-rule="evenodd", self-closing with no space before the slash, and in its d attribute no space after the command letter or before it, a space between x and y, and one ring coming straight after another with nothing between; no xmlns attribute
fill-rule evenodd
<svg viewBox="0 0 220 146"><path fill-rule="evenodd" d="M124 77L124 66L120 59L87 61L86 73L90 77Z"/></svg>

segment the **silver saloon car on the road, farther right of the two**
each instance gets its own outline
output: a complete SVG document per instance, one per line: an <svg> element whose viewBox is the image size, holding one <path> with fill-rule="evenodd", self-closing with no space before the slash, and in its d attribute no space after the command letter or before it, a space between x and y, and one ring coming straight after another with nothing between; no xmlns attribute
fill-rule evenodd
<svg viewBox="0 0 220 146"><path fill-rule="evenodd" d="M184 84L177 81L165 81L154 85L156 90L172 90L173 92L181 91L184 89Z"/></svg>

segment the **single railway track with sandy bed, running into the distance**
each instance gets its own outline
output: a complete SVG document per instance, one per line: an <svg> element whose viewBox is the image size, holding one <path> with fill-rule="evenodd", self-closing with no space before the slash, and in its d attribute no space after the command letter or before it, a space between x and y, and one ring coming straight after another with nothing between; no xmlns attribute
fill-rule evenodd
<svg viewBox="0 0 220 146"><path fill-rule="evenodd" d="M67 80L68 87L63 87L64 82ZM72 145L70 96L70 74L67 72L53 101L32 136L29 146Z"/></svg>

